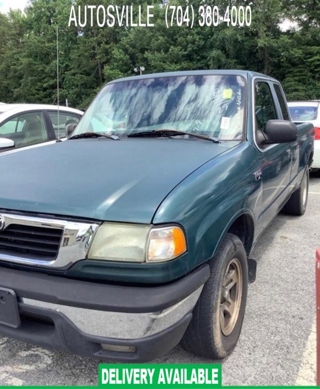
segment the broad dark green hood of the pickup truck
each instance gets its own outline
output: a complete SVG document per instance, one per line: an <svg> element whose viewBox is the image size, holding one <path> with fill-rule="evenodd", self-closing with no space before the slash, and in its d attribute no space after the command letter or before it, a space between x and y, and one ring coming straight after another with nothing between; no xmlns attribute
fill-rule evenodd
<svg viewBox="0 0 320 389"><path fill-rule="evenodd" d="M202 140L94 138L0 155L0 209L150 223L174 186L227 149Z"/></svg>

